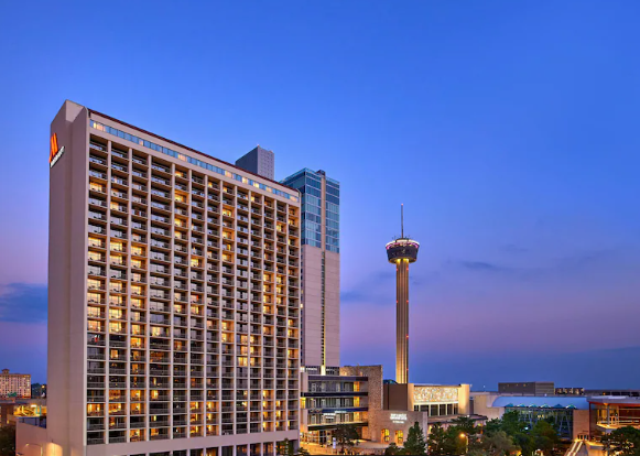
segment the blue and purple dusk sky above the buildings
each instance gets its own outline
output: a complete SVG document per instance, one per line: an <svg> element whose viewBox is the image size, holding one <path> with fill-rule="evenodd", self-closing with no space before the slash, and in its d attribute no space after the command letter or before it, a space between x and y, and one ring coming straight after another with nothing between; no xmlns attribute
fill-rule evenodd
<svg viewBox="0 0 640 456"><path fill-rule="evenodd" d="M404 203L411 381L640 388L638 2L206 3L0 6L0 369L46 379L48 132L70 99L338 180L343 363L394 377Z"/></svg>

